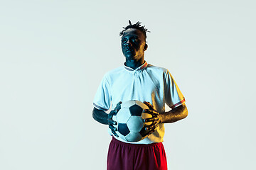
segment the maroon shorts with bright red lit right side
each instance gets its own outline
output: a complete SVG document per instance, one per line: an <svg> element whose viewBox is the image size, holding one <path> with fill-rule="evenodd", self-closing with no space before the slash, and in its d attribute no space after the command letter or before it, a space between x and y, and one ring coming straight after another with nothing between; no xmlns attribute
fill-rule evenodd
<svg viewBox="0 0 256 170"><path fill-rule="evenodd" d="M110 142L107 170L166 170L166 154L162 143L129 144Z"/></svg>

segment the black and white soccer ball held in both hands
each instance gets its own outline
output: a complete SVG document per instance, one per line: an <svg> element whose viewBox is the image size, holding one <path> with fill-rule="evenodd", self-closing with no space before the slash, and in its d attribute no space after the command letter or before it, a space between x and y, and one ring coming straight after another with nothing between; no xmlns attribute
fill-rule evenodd
<svg viewBox="0 0 256 170"><path fill-rule="evenodd" d="M149 107L141 101L126 101L121 104L121 109L112 119L117 122L117 125L114 125L114 127L117 128L117 135L122 140L138 142L147 137L146 133L149 130L145 130L145 125L150 125L151 122L144 123L143 120L145 118L152 118L152 115L144 113L144 109L149 109Z"/></svg>

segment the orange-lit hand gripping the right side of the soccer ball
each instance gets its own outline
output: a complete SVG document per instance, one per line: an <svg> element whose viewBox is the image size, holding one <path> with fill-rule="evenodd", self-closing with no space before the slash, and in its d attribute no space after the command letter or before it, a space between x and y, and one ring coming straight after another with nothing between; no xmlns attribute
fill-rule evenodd
<svg viewBox="0 0 256 170"><path fill-rule="evenodd" d="M152 115L152 118L144 119L144 123L152 122L150 125L145 126L145 130L149 130L149 132L147 132L147 135L151 135L151 133L154 132L159 125L160 117L159 113L154 109L154 106L152 106L151 103L146 101L144 101L143 103L149 107L149 109L144 110L144 113L149 113Z"/></svg>

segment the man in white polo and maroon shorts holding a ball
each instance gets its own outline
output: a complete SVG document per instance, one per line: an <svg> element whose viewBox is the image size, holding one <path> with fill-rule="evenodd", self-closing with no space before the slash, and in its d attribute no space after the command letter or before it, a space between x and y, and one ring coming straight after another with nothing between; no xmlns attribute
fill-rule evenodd
<svg viewBox="0 0 256 170"><path fill-rule="evenodd" d="M144 60L147 29L140 22L129 25L120 36L123 67L107 72L97 89L92 116L99 123L109 125L113 138L107 155L108 170L163 170L167 169L166 154L162 144L164 123L174 123L186 118L185 98L167 69L147 64ZM149 106L145 111L153 118L147 130L149 136L139 142L125 142L118 137L112 116L117 114L122 101L137 100ZM109 114L105 111L116 106ZM165 111L165 103L172 108Z"/></svg>

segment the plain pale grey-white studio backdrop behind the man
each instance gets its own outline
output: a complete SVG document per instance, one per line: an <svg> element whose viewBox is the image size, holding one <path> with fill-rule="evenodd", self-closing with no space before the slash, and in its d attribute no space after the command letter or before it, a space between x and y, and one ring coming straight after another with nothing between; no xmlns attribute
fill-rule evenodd
<svg viewBox="0 0 256 170"><path fill-rule="evenodd" d="M92 119L119 32L141 21L145 60L166 67L188 117L166 124L169 169L256 169L255 1L0 3L0 169L105 169L111 137Z"/></svg>

